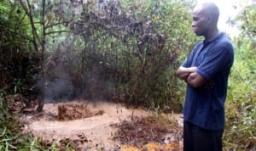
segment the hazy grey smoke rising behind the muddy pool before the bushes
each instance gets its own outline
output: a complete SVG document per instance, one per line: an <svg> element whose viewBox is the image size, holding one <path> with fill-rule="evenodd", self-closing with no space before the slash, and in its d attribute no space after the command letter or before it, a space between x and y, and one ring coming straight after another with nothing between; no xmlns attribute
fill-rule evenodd
<svg viewBox="0 0 256 151"><path fill-rule="evenodd" d="M115 89L111 78L105 75L103 55L92 53L75 42L76 37L68 36L65 42L59 42L55 47L49 46L52 48L45 60L44 103L77 98L98 101L113 97ZM32 87L38 95L42 92L42 85L43 80L39 76Z"/></svg>

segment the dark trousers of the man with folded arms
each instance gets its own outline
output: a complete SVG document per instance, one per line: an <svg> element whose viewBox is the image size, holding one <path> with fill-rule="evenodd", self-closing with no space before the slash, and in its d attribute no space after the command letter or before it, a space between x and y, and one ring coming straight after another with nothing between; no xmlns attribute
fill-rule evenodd
<svg viewBox="0 0 256 151"><path fill-rule="evenodd" d="M222 151L223 131L210 131L184 121L183 151Z"/></svg>

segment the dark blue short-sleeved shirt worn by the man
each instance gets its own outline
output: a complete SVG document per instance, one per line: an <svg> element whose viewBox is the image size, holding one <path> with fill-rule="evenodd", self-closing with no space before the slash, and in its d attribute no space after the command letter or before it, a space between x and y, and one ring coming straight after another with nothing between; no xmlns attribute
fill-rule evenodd
<svg viewBox="0 0 256 151"><path fill-rule="evenodd" d="M187 86L185 121L208 130L224 129L224 102L233 61L234 48L224 33L195 46L183 67L197 67L207 82L199 88Z"/></svg>

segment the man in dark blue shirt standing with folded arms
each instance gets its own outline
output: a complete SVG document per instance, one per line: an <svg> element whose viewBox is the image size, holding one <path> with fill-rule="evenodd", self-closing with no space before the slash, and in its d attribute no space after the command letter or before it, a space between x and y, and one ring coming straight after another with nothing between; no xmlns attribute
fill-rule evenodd
<svg viewBox="0 0 256 151"><path fill-rule="evenodd" d="M204 36L177 70L187 82L183 107L183 150L220 151L224 132L224 102L234 61L230 40L218 31L218 7L202 3L193 13L192 28Z"/></svg>

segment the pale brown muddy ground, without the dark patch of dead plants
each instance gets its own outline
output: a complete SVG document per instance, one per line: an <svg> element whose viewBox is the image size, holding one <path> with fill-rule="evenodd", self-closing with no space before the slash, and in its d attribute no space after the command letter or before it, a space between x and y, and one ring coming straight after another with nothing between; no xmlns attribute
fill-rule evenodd
<svg viewBox="0 0 256 151"><path fill-rule="evenodd" d="M130 148L128 145L121 144L117 139L113 139L117 132L117 127L113 125L118 126L125 120L131 121L131 117L147 117L155 114L145 109L127 109L119 103L99 101L90 103L77 100L72 103L45 103L42 113L25 114L21 119L27 122L25 131L32 131L34 136L41 137L49 143L73 140L79 142L77 150L143 150L142 148ZM178 126L182 126L181 115L168 116L175 118ZM174 139L168 134L166 138L168 140L163 138L162 144L171 143ZM144 150L165 150L160 147L162 145L158 144L160 143L151 143L151 146L158 147Z"/></svg>

